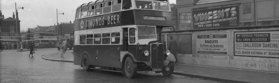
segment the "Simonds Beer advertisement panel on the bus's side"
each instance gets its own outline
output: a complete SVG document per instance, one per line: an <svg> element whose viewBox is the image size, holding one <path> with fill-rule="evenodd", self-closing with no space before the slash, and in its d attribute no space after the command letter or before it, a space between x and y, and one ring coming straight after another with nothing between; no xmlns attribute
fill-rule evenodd
<svg viewBox="0 0 279 83"><path fill-rule="evenodd" d="M106 16L99 16L99 17L89 17L84 20L80 20L80 29L86 28L99 28L99 27L106 27L112 25L120 25L120 13L118 14L109 14Z"/></svg>

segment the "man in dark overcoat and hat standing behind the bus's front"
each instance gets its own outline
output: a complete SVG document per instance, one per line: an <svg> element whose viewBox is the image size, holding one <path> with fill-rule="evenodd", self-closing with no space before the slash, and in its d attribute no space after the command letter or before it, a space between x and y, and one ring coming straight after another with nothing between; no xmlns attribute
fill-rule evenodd
<svg viewBox="0 0 279 83"><path fill-rule="evenodd" d="M173 39L172 36L170 36L170 41L169 41L169 44L168 44L168 50L170 51L170 53L172 53L175 57L175 63L177 63L177 57L176 57L176 49L177 49L177 43L176 41Z"/></svg>

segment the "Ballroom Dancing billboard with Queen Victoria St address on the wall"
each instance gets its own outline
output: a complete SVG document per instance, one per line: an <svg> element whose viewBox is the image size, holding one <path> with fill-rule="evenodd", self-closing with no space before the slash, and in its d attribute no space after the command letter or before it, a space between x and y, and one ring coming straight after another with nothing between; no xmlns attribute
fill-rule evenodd
<svg viewBox="0 0 279 83"><path fill-rule="evenodd" d="M279 57L279 31L235 32L237 56Z"/></svg>

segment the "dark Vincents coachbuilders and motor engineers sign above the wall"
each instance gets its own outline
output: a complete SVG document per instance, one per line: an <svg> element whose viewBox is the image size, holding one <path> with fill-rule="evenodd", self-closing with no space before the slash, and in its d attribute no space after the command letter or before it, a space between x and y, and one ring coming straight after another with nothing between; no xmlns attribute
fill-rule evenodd
<svg viewBox="0 0 279 83"><path fill-rule="evenodd" d="M193 11L194 28L239 26L238 6Z"/></svg>

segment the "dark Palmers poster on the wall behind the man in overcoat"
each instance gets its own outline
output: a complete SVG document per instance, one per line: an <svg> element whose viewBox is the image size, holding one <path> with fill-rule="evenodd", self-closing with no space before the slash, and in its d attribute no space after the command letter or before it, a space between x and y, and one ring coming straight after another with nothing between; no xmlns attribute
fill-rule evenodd
<svg viewBox="0 0 279 83"><path fill-rule="evenodd" d="M168 42L170 41L170 36L176 41L177 53L192 54L192 34L172 34L167 36Z"/></svg>

